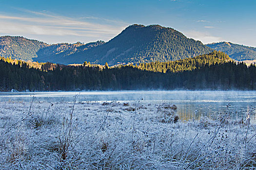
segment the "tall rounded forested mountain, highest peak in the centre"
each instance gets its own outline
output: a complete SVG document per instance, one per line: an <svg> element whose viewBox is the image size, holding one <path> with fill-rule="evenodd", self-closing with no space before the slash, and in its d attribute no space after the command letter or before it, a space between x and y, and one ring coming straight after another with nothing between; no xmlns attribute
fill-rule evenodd
<svg viewBox="0 0 256 170"><path fill-rule="evenodd" d="M159 25L131 25L107 43L63 58L62 64L84 61L110 65L117 63L141 63L175 61L193 57L212 50L200 41ZM58 62L53 59L53 62Z"/></svg>

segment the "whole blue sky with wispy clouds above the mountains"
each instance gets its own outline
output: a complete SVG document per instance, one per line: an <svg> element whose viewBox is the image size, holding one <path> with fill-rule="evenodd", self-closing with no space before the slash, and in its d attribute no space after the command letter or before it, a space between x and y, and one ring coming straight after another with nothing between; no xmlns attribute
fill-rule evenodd
<svg viewBox="0 0 256 170"><path fill-rule="evenodd" d="M87 43L134 23L256 47L256 0L0 0L0 35Z"/></svg>

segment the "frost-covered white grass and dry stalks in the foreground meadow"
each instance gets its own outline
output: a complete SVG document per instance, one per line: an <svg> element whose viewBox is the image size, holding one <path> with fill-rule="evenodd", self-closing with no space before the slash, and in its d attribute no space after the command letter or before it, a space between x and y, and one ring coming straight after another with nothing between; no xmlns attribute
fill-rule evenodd
<svg viewBox="0 0 256 170"><path fill-rule="evenodd" d="M253 170L256 125L145 102L0 102L1 170Z"/></svg>

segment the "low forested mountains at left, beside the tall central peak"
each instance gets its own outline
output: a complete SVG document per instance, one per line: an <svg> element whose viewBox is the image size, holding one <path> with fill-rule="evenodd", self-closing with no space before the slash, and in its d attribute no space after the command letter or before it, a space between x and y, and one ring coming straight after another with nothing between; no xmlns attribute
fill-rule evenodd
<svg viewBox="0 0 256 170"><path fill-rule="evenodd" d="M97 41L87 44L77 42L75 44L59 43L50 45L22 36L1 36L0 56L39 62L51 61L54 58L58 63L58 58L64 58L73 53L88 50L104 43L104 41Z"/></svg>

